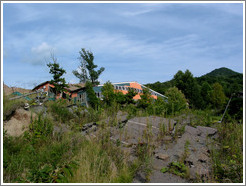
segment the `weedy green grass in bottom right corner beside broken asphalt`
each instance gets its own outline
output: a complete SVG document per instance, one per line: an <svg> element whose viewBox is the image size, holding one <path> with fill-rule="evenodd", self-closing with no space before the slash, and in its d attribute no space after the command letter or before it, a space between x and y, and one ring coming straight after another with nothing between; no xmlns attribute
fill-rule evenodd
<svg viewBox="0 0 246 186"><path fill-rule="evenodd" d="M213 176L217 182L243 182L243 125L218 124L219 146L212 150Z"/></svg>

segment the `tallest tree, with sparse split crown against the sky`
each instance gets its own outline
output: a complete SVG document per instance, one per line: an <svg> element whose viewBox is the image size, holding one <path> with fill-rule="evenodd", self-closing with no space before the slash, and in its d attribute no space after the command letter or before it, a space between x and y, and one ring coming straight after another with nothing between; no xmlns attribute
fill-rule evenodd
<svg viewBox="0 0 246 186"><path fill-rule="evenodd" d="M94 55L91 51L82 48L81 51L79 51L79 54L80 71L74 70L73 74L79 78L80 82L86 82L87 80L90 80L93 86L98 85L98 78L105 70L104 67L101 67L99 70L95 70L97 65L94 64Z"/></svg>

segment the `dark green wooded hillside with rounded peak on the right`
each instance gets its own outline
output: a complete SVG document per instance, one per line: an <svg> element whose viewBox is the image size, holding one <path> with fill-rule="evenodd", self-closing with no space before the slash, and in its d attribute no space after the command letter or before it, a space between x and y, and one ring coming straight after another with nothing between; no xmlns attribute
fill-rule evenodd
<svg viewBox="0 0 246 186"><path fill-rule="evenodd" d="M166 82L146 84L147 87L162 94L176 86L188 99L190 107L196 109L217 108L221 112L232 96L229 114L242 119L243 74L222 67L201 77L193 77L189 70L178 71L173 79Z"/></svg>

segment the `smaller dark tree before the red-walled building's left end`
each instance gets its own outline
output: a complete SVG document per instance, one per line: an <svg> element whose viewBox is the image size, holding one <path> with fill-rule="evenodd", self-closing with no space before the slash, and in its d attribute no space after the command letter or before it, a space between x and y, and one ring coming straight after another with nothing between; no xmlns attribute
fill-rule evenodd
<svg viewBox="0 0 246 186"><path fill-rule="evenodd" d="M60 64L57 62L57 58L54 55L51 55L52 62L48 63L47 66L50 68L50 74L53 75L53 79L50 81L51 84L55 86L55 94L61 93L65 90L65 87L68 87L68 84L65 81L65 78L62 78L63 74L66 71L60 67Z"/></svg>

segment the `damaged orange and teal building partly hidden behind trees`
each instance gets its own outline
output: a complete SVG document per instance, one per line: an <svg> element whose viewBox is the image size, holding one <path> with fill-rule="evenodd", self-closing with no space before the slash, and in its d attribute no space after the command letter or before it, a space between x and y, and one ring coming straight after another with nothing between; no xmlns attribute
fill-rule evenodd
<svg viewBox="0 0 246 186"><path fill-rule="evenodd" d="M112 85L114 86L115 91L122 92L123 94L127 94L129 90L134 90L137 93L133 97L134 100L141 99L141 94L143 94L143 89L147 88L146 86L144 86L144 85L142 85L136 81L112 83ZM65 91L63 91L62 93L59 93L57 95L55 94L54 87L55 86L53 84L51 84L50 81L46 81L46 82L43 82L43 83L37 85L36 87L34 87L32 89L32 91L42 90L43 92L46 93L49 100L55 100L55 99L63 98L63 99L68 99L68 100L72 101L73 103L78 103L78 104L87 106L88 97L86 94L84 83L68 84L68 87L65 88ZM103 99L102 87L103 87L103 84L93 87L95 95L101 100ZM166 96L164 96L164 95L162 95L162 94L160 94L160 93L158 93L152 89L149 89L149 91L151 93L151 97L154 99L157 99L158 97L163 98L163 99L167 99Z"/></svg>

